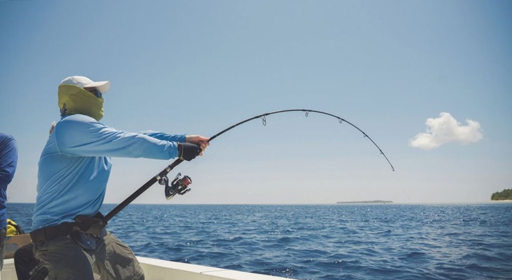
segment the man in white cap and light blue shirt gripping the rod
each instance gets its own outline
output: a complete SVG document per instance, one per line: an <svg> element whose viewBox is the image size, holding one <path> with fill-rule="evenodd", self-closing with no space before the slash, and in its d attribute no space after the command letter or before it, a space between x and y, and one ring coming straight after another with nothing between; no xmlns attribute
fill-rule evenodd
<svg viewBox="0 0 512 280"><path fill-rule="evenodd" d="M99 122L109 81L83 76L58 86L61 119L39 159L30 235L50 279L144 279L132 250L106 231L99 209L111 157L190 161L209 145L200 135L128 133Z"/></svg>

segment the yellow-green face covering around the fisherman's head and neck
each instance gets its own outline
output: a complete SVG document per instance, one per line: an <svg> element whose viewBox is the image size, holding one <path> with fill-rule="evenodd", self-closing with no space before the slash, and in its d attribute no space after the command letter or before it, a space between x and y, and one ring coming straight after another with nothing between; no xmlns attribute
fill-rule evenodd
<svg viewBox="0 0 512 280"><path fill-rule="evenodd" d="M60 116L82 114L99 121L103 118L103 98L74 84L60 84L58 91Z"/></svg>

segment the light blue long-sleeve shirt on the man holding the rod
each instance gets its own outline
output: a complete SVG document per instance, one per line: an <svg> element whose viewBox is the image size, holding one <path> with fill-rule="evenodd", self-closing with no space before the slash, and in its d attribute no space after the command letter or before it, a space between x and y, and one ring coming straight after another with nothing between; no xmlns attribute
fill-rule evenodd
<svg viewBox="0 0 512 280"><path fill-rule="evenodd" d="M172 159L185 135L128 133L85 115L62 117L39 159L32 230L93 216L105 197L111 157Z"/></svg>

